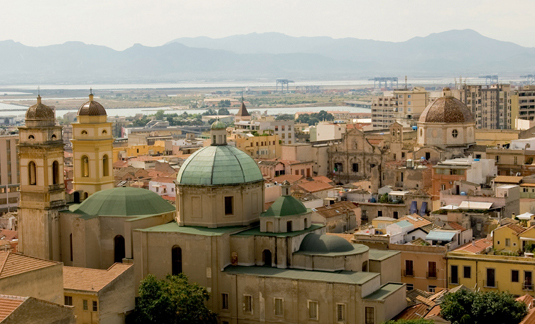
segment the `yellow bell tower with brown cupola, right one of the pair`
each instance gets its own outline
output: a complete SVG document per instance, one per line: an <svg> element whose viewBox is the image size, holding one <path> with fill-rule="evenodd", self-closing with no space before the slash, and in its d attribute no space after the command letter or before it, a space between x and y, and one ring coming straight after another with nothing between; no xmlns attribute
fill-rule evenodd
<svg viewBox="0 0 535 324"><path fill-rule="evenodd" d="M78 120L72 123L73 188L82 198L97 191L113 188L113 136L106 109L93 100L78 109Z"/></svg>

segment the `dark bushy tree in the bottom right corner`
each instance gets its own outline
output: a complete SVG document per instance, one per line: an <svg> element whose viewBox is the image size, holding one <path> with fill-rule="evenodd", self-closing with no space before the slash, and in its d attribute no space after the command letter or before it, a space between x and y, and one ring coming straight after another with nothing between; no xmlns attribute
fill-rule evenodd
<svg viewBox="0 0 535 324"><path fill-rule="evenodd" d="M528 313L526 304L507 292L459 290L448 294L440 315L452 324L516 324Z"/></svg>

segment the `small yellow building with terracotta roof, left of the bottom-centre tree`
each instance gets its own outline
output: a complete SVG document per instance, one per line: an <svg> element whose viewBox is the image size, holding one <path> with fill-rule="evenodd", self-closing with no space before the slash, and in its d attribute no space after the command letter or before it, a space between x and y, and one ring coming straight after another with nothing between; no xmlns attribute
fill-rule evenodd
<svg viewBox="0 0 535 324"><path fill-rule="evenodd" d="M65 305L78 324L124 323L135 307L134 267L115 263L107 270L63 268Z"/></svg>

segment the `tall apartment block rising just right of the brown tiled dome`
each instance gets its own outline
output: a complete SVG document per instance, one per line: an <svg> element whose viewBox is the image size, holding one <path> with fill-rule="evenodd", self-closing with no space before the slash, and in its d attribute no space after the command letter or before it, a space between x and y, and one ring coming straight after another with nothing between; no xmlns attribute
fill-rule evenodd
<svg viewBox="0 0 535 324"><path fill-rule="evenodd" d="M472 111L476 128L511 128L511 86L509 84L464 85L453 91Z"/></svg>

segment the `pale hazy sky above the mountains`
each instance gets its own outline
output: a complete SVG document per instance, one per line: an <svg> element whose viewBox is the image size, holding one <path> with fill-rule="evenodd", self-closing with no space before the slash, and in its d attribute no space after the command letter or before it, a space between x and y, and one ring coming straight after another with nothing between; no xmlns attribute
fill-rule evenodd
<svg viewBox="0 0 535 324"><path fill-rule="evenodd" d="M451 29L535 47L534 0L0 0L0 40L125 49L252 32L404 41Z"/></svg>

